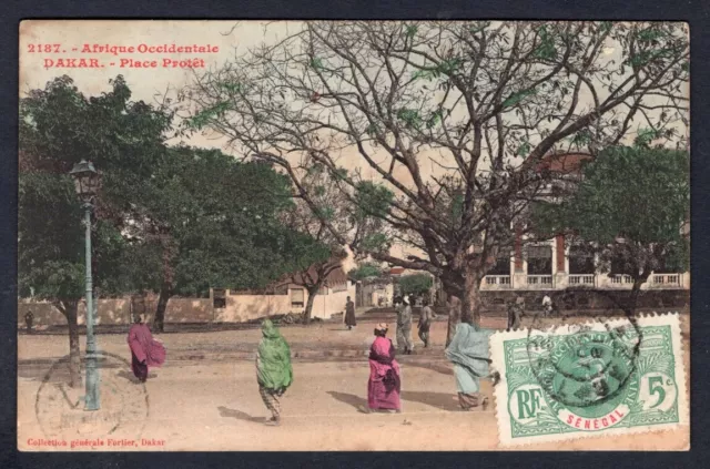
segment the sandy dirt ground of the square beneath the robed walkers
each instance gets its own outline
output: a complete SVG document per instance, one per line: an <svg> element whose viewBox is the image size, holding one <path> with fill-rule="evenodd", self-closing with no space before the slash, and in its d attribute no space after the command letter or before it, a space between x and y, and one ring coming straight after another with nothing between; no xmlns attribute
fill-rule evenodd
<svg viewBox="0 0 710 469"><path fill-rule="evenodd" d="M128 366L102 369L102 379L113 383L123 398L118 406L121 428L131 430L128 440L136 447L97 447L94 450L496 450L498 448L496 402L485 411L463 412L458 409L450 365L443 359L446 323L436 323L432 338L434 348L426 354L400 357L403 412L365 415L358 406L366 404L368 365L364 357L372 337L372 324L344 330L341 325L282 329L292 349L351 348L362 350L362 359L294 359L294 385L282 400L281 427L267 427L267 411L261 401L253 363L237 360L174 360L176 350L224 348L252 350L260 339L258 330L204 334L165 334L161 336L169 359L151 370L144 390L133 383ZM689 350L688 320L682 318L683 346ZM130 357L125 337L105 335L100 347ZM83 346L83 338L82 338ZM417 344L420 351L420 344ZM21 450L54 450L38 445L44 437L38 402L44 399L48 383L38 394L51 360L65 354L68 339L62 336L19 337L18 447ZM49 363L47 363L49 360ZM684 354L686 369L690 356ZM688 374L689 375L689 374ZM103 386L103 385L102 385ZM55 389L54 389L55 390ZM484 381L483 391L491 395L491 384ZM69 390L69 400L80 390ZM102 401L110 407L111 392L102 390ZM42 395L42 396L40 396ZM144 395L148 396L144 398ZM40 396L40 397L38 397ZM115 397L113 397L115 399ZM493 400L493 399L491 399ZM43 402L43 401L42 401ZM49 402L49 400L47 401ZM39 407L45 406L41 404ZM143 406L146 406L144 409ZM42 409L40 409L42 411ZM145 411L148 416L141 414ZM132 421L136 420L136 421ZM121 429L115 432L118 438ZM128 430L125 430L128 431ZM92 428L79 431L77 438L95 437ZM128 435L128 434L126 434ZM70 435L71 436L71 435ZM613 438L585 438L564 443L518 447L523 450L681 450L689 447L689 427ZM160 443L145 446L142 442ZM77 448L91 450L91 447ZM68 450L68 449L64 449Z"/></svg>

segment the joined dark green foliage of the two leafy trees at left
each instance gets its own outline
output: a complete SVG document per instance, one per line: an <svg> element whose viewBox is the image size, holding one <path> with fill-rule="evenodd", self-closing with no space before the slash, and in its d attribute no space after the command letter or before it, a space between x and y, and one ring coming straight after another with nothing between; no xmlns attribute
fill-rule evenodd
<svg viewBox="0 0 710 469"><path fill-rule="evenodd" d="M102 294L158 290L166 282L181 295L258 288L323 258L322 246L312 248L278 221L293 204L286 176L215 150L168 149L172 115L131 102L121 77L111 84L87 98L64 77L21 100L21 295L83 296L83 211L68 176L80 159L102 176L92 227Z"/></svg>

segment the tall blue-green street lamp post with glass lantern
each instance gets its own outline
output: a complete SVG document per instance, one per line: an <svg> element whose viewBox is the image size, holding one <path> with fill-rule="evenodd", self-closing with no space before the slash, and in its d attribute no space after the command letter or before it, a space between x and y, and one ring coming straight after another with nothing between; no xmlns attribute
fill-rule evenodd
<svg viewBox="0 0 710 469"><path fill-rule="evenodd" d="M99 188L99 173L90 161L81 160L69 173L74 179L77 195L83 202L84 225L87 230L87 395L84 410L99 410L101 399L99 395L99 371L97 369L97 341L93 336L93 285L91 279L91 210L93 197Z"/></svg>

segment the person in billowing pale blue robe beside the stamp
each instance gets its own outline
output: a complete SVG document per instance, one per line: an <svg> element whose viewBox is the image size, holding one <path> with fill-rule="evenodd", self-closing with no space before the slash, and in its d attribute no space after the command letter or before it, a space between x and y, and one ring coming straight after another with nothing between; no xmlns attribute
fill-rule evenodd
<svg viewBox="0 0 710 469"><path fill-rule="evenodd" d="M468 323L456 326L456 334L446 349L446 358L454 364L458 404L464 410L488 405L479 394L480 378L488 376L488 336Z"/></svg>

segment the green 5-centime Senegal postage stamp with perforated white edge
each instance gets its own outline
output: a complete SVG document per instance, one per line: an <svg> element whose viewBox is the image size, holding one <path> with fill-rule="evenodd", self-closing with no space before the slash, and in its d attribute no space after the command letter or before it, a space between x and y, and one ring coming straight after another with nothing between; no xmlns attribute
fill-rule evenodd
<svg viewBox="0 0 710 469"><path fill-rule="evenodd" d="M490 337L503 446L688 425L677 314Z"/></svg>

